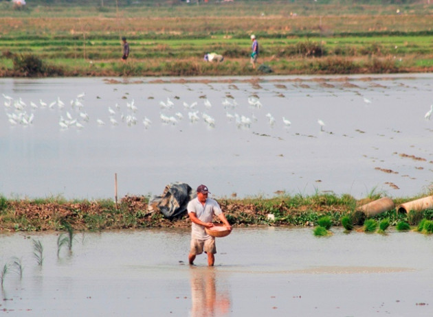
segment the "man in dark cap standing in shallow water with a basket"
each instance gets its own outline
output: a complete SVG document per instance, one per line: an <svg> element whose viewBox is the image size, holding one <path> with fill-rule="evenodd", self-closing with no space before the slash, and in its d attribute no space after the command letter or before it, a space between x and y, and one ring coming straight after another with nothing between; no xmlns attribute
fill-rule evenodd
<svg viewBox="0 0 433 317"><path fill-rule="evenodd" d="M197 198L188 202L188 215L190 216L191 224L191 250L188 255L190 265L194 264L196 255L203 253L208 254L208 266L214 266L216 253L215 237L208 235L205 228L212 228L212 218L217 215L228 230L232 230L232 226L228 223L218 202L208 198L208 187L200 185L197 187Z"/></svg>

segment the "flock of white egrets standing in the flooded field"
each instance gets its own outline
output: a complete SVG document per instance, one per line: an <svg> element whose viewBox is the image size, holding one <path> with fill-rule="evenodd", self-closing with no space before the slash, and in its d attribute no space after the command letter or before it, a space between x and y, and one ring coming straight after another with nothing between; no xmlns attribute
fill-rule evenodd
<svg viewBox="0 0 433 317"><path fill-rule="evenodd" d="M38 104L35 102L30 102L30 106L27 106L26 102L23 101L21 97L14 99L9 95L2 94L4 98L4 106L6 109L6 114L8 116L8 121L10 125L22 125L29 126L33 124L34 121L34 112L38 108L49 108L49 109L58 109L63 113L60 115L58 125L61 129L68 128L85 128L85 125L89 123L90 118L88 113L84 110L85 106L83 104L85 93L80 93L76 95L69 102L69 108L66 106L65 102L63 102L60 97L57 97L52 102L43 102L42 99L39 99ZM364 97L364 102L366 104L370 104L371 101ZM245 103L246 104L246 103ZM247 104L249 105L249 113L251 115L241 115L239 114L241 111L245 112L245 108L241 109L240 104L236 102L235 99L229 99L225 97L221 106L225 110L225 117L229 122L234 122L237 128L246 128L249 129L252 127L254 122L258 121L254 112L263 108L263 104L260 102L258 97L249 96L247 98ZM167 97L166 100L159 101L159 121L162 124L166 125L177 125L180 121L184 120L186 114L188 115L188 119L190 124L196 124L199 121L203 121L210 128L215 128L216 120L214 117L210 115L210 110L212 108L212 103L209 99L205 99L203 101L203 106L201 106L201 102L192 102L188 104L187 102L182 102L183 110L178 110L175 112L176 102ZM185 115L182 113L185 113ZM119 124L126 123L127 126L135 126L139 119L137 118L137 112L139 112L139 107L135 105L134 99L131 102L126 102L126 112L122 111L122 107L116 103L115 106L108 106L107 115L108 121L111 126L118 126ZM256 112L257 113L257 112ZM425 119L430 119L433 113L433 104L430 106L430 110L425 113ZM267 113L265 115L267 118L267 122L271 128L277 124L277 120L271 113ZM291 126L291 121L283 116L280 119L282 126L285 128L289 128ZM104 126L106 123L103 119L96 118L96 124L98 126ZM324 121L318 119L318 125L320 126L320 130L324 131ZM153 121L148 117L142 117L142 124L144 128L151 128Z"/></svg>

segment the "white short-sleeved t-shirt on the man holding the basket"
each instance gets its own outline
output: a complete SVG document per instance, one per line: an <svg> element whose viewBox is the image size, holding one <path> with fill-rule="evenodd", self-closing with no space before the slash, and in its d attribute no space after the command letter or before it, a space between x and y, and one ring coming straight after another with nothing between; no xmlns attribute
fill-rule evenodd
<svg viewBox="0 0 433 317"><path fill-rule="evenodd" d="M186 209L188 210L188 213L195 213L197 218L202 222L212 222L214 215L220 215L223 212L221 207L219 207L218 202L212 198L207 198L203 206L203 204L199 202L199 198L196 197L188 202L188 207L186 207ZM195 222L192 222L191 225L191 237L199 240L210 239L210 235L206 233L205 227L196 224Z"/></svg>

